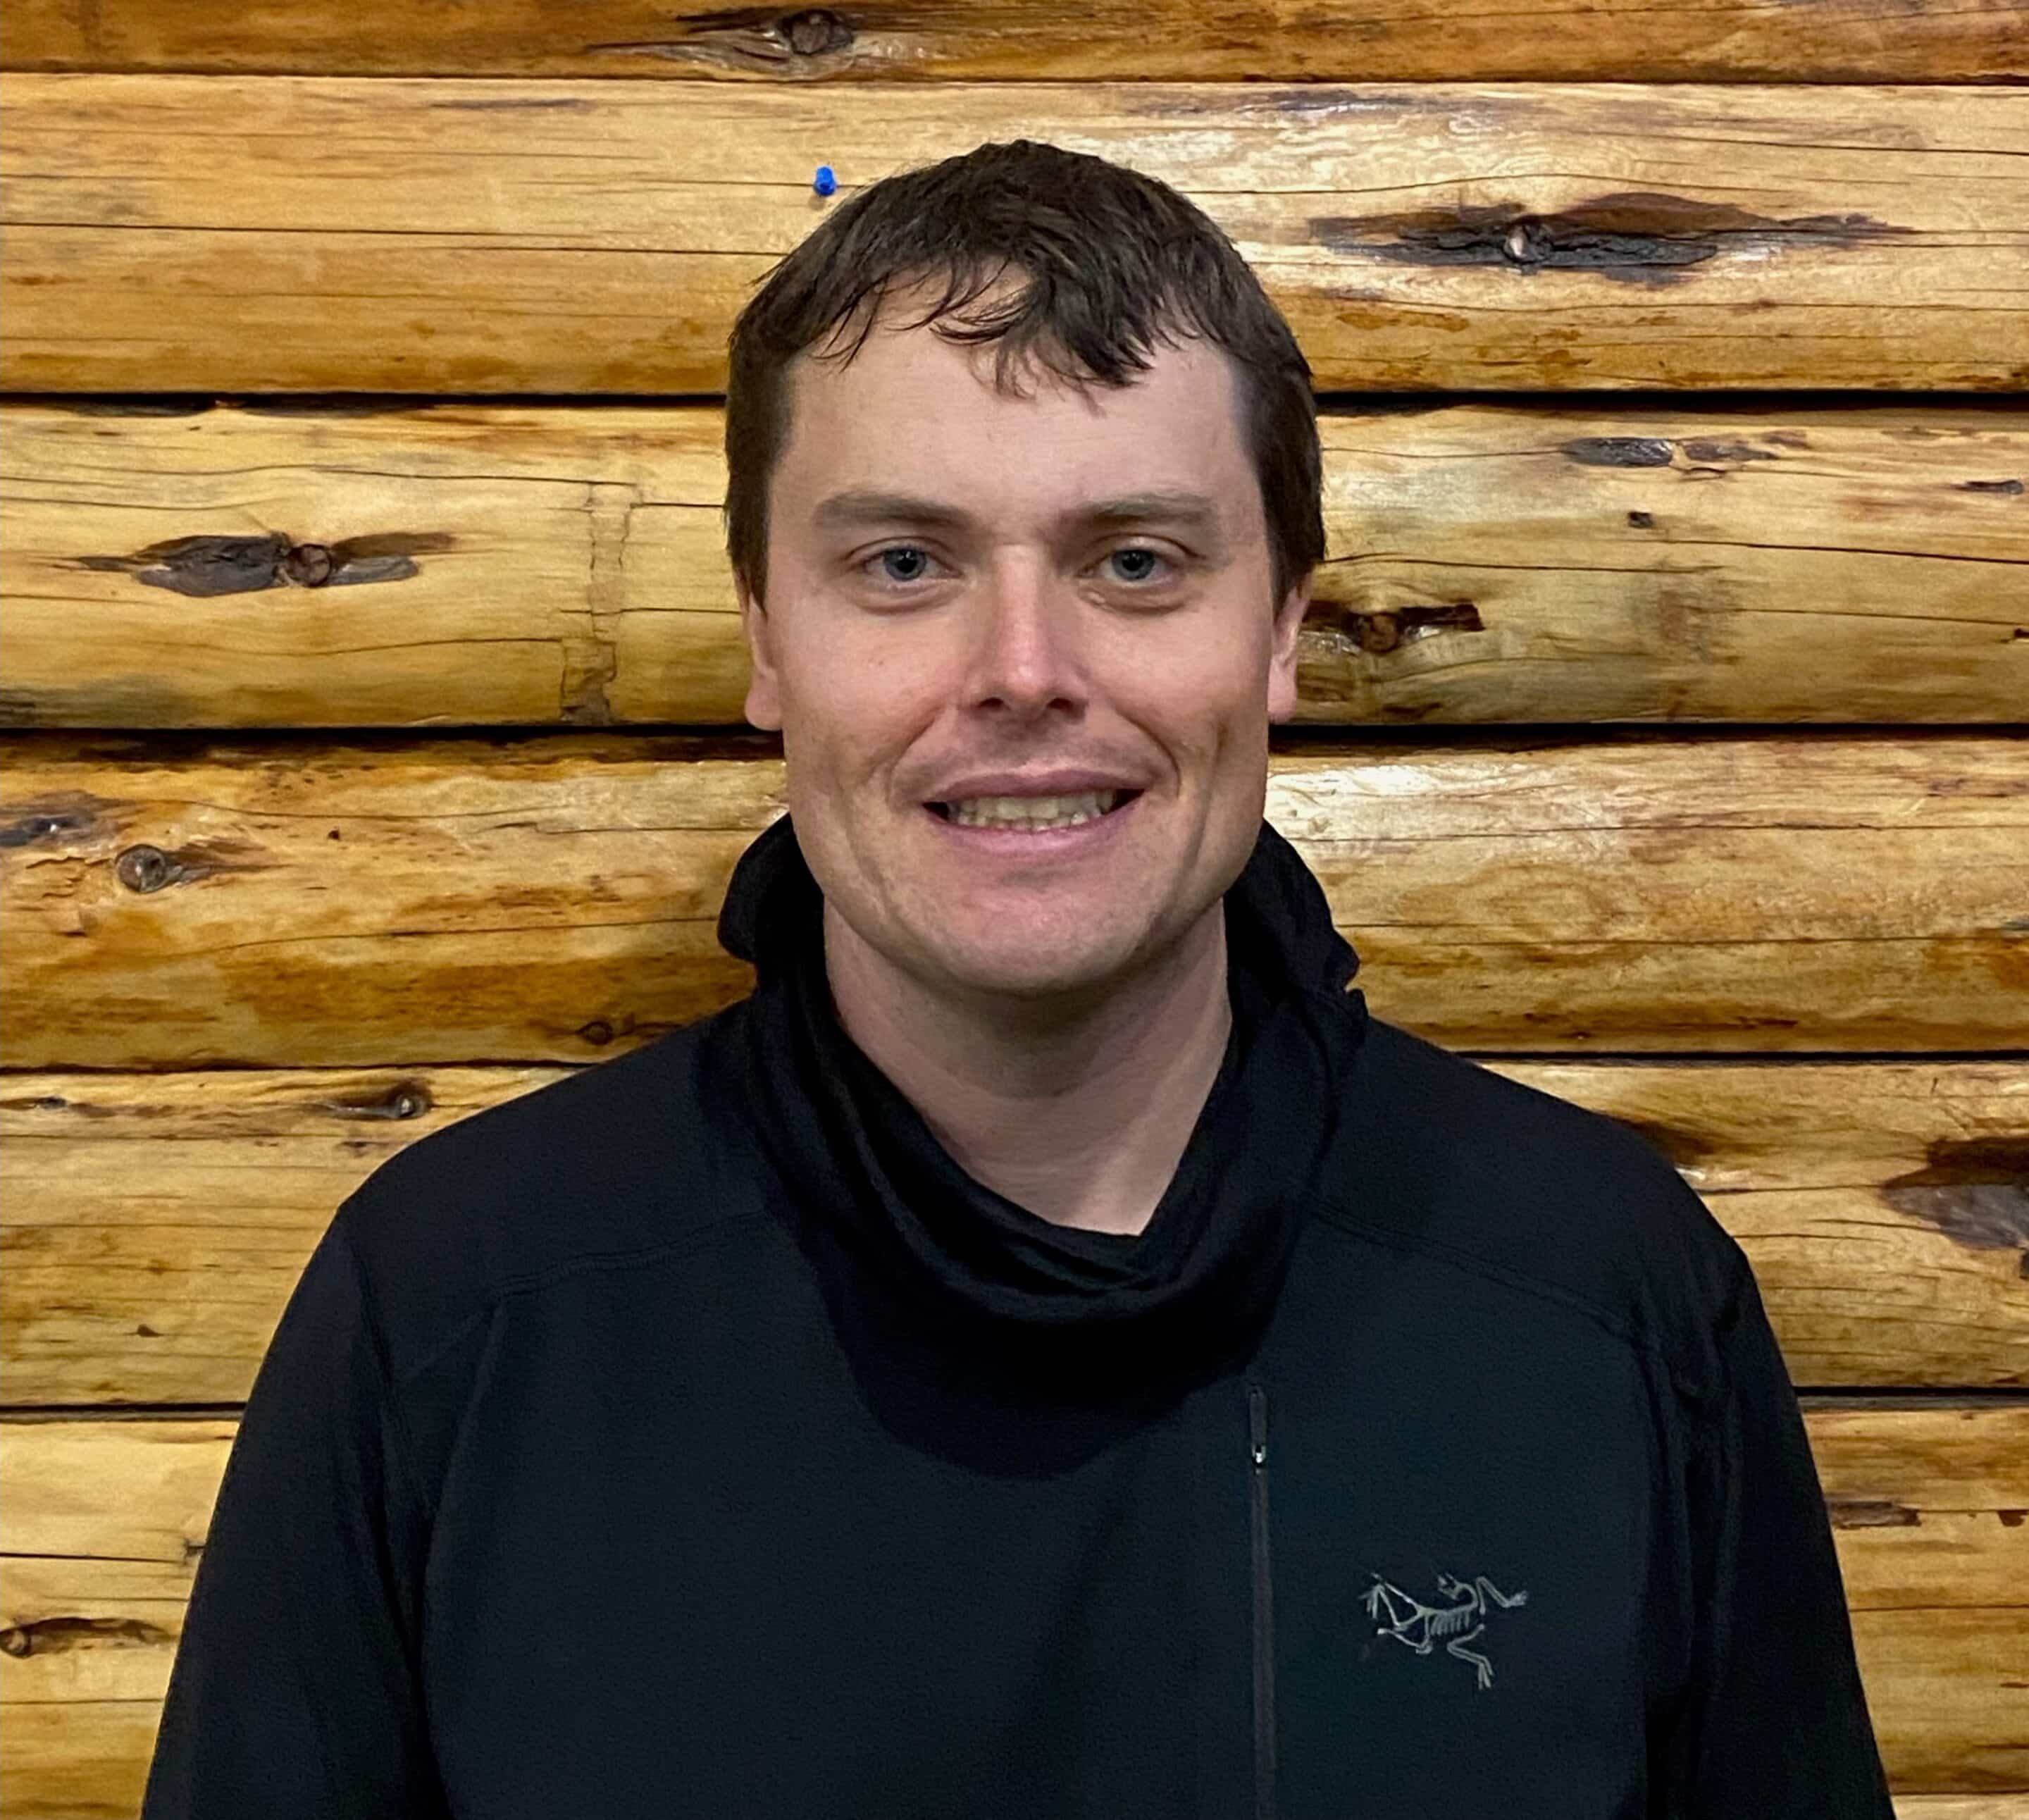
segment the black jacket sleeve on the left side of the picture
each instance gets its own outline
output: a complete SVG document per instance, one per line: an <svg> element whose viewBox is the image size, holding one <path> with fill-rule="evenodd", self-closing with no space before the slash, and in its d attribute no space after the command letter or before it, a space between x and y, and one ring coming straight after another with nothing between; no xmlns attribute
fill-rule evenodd
<svg viewBox="0 0 2029 1820"><path fill-rule="evenodd" d="M416 1672L424 1546L341 1209L227 1457L142 1820L444 1814Z"/></svg>

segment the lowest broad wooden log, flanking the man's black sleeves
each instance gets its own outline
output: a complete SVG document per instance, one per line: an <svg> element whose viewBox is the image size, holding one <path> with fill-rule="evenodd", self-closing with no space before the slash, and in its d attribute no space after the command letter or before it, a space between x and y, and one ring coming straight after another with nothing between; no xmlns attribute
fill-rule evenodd
<svg viewBox="0 0 2029 1820"><path fill-rule="evenodd" d="M2029 1408L1812 1406L1806 1422L1897 1788L2029 1786ZM231 1416L0 1422L10 1814L138 1802L231 1437ZM1852 1516L1877 1508L1897 1518Z"/></svg>

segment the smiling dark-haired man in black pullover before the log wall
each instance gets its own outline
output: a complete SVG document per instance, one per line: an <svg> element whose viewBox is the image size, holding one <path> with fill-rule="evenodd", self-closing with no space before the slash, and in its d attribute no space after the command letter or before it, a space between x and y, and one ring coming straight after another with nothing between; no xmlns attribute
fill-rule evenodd
<svg viewBox="0 0 2029 1820"><path fill-rule="evenodd" d="M150 1820L1885 1820L1743 1254L1262 820L1319 457L1230 243L907 172L726 422L757 990L339 1211Z"/></svg>

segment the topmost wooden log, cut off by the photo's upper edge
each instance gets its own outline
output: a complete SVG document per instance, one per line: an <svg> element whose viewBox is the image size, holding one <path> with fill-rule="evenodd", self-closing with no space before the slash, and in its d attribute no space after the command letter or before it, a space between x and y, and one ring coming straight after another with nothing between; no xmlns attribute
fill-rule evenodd
<svg viewBox="0 0 2029 1820"><path fill-rule="evenodd" d="M1057 6L891 0L726 12L694 0L438 8L294 0L16 0L6 67L276 75L666 75L724 81L1980 81L2029 75L2009 6L1940 0L1546 4L1530 30L1467 6L1366 4L1319 30L1254 0ZM1893 26L1893 28L1891 28Z"/></svg>

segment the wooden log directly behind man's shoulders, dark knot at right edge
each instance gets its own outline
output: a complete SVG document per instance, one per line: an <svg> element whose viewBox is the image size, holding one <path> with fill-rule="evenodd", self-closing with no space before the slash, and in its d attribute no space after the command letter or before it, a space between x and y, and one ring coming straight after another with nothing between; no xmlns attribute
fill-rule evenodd
<svg viewBox="0 0 2029 1820"><path fill-rule="evenodd" d="M2029 1386L2029 1061L1491 1061L1631 1124L1747 1248L1804 1386ZM12 1404L225 1404L345 1199L558 1067L12 1075Z"/></svg>

